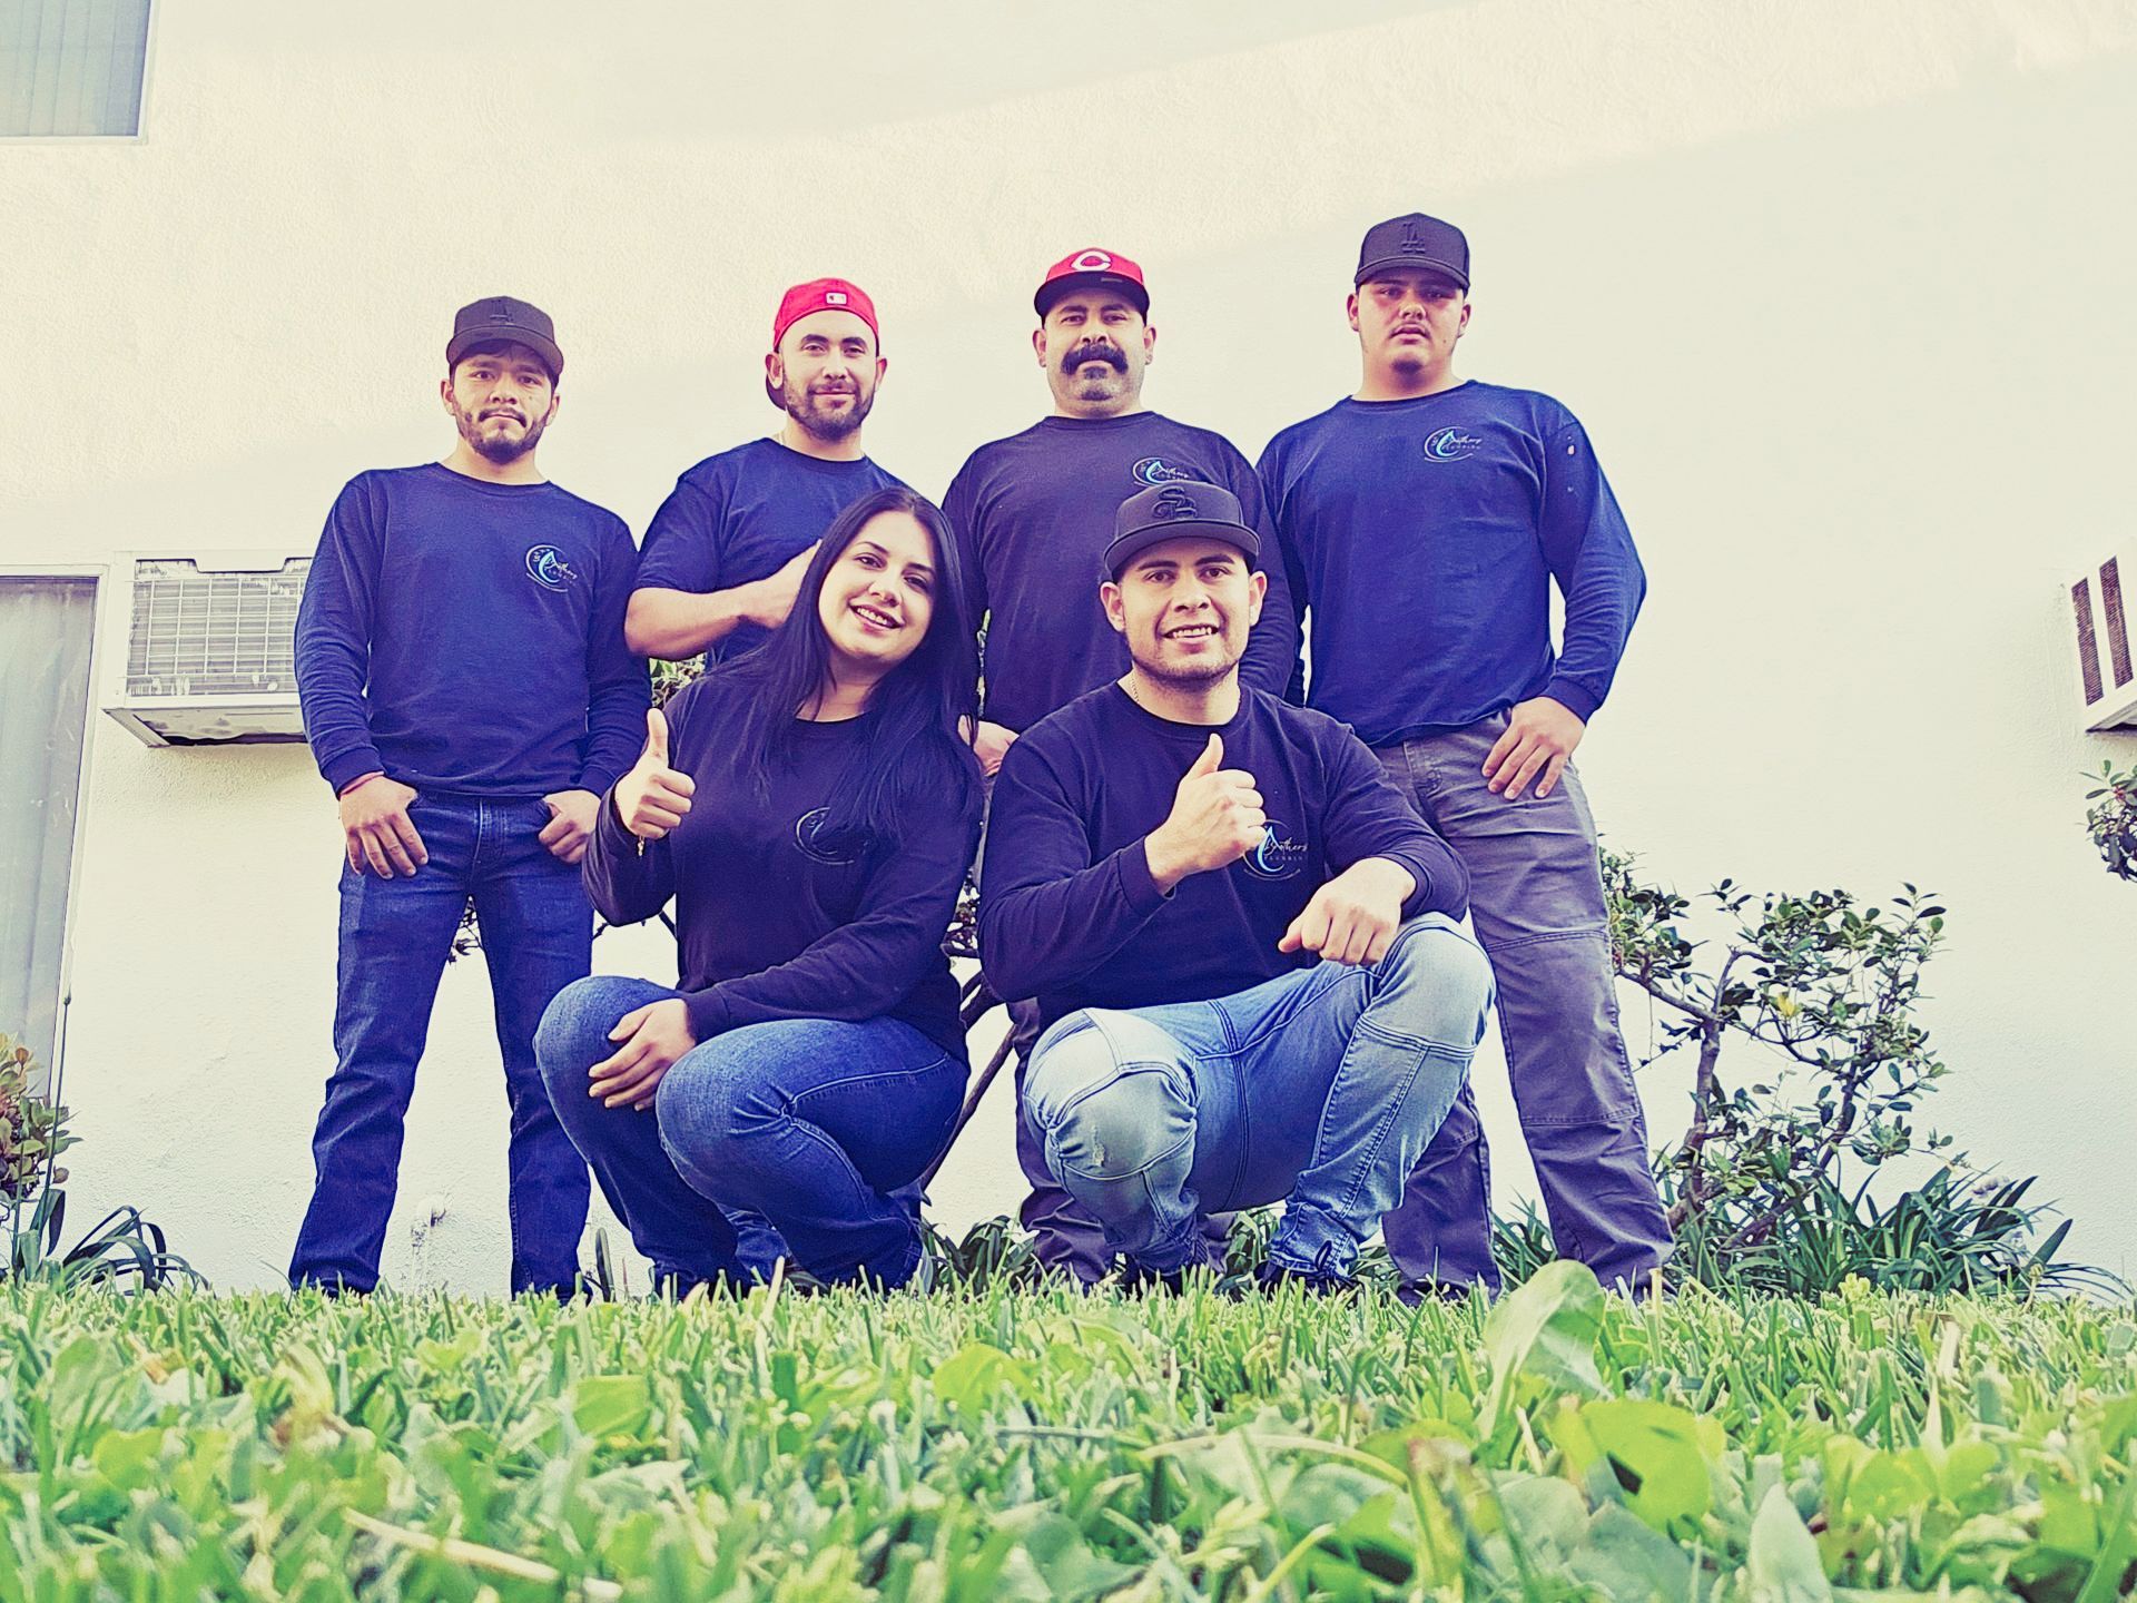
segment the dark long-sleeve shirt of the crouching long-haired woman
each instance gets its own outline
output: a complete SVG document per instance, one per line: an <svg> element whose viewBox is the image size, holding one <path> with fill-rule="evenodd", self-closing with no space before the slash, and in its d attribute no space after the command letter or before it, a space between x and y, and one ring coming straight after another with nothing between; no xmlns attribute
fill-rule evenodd
<svg viewBox="0 0 2137 1603"><path fill-rule="evenodd" d="M895 842L827 846L821 827L861 718L797 720L793 761L774 761L765 799L735 757L746 695L709 675L667 703L669 765L697 784L690 812L641 853L613 795L603 799L588 898L611 923L650 919L673 898L699 1041L771 1020L893 1017L962 1060L942 938L979 838L977 765L968 808L938 797L906 810Z"/></svg>

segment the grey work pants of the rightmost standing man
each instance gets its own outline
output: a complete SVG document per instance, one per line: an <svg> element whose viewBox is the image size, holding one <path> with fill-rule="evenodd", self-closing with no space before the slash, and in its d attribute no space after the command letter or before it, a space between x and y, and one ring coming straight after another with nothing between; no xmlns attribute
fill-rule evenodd
<svg viewBox="0 0 2137 1603"><path fill-rule="evenodd" d="M1470 921L1498 975L1498 1034L1560 1255L1603 1285L1645 1285L1669 1261L1579 774L1519 802L1485 789L1507 714L1376 754L1470 876ZM1498 1291L1492 1154L1468 1086L1389 1214L1387 1250L1413 1287Z"/></svg>

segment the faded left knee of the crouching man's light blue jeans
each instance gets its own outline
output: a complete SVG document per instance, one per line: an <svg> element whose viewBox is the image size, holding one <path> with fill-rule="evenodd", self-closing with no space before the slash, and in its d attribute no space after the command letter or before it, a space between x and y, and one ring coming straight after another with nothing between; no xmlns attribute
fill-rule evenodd
<svg viewBox="0 0 2137 1603"><path fill-rule="evenodd" d="M1088 1015L1062 1020L1024 1086L1032 1131L1049 1156L1092 1180L1126 1180L1184 1148L1195 1105L1175 1060L1120 1045Z"/></svg>

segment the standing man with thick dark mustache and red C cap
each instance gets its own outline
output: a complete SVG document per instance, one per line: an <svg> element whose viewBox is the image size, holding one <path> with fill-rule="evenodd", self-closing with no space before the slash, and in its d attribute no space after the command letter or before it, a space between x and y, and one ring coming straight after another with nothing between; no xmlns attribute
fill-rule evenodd
<svg viewBox="0 0 2137 1603"><path fill-rule="evenodd" d="M1019 731L1128 671L1128 650L1105 618L1096 579L1120 504L1141 489L1220 485L1237 496L1244 522L1261 536L1269 592L1246 643L1242 684L1282 697L1299 648L1254 468L1222 434L1143 406L1143 372L1158 348L1143 269L1116 250L1075 250L1047 269L1032 310L1039 312L1032 353L1054 391L1054 413L979 447L942 500L964 545L972 611L987 620L985 707L974 746L989 776ZM1039 1011L1013 1002L1011 1015L1021 1099ZM1032 1184L1021 1218L1036 1235L1041 1261L1096 1280L1111 1252L1096 1220L1054 1184L1021 1118L1017 1163Z"/></svg>

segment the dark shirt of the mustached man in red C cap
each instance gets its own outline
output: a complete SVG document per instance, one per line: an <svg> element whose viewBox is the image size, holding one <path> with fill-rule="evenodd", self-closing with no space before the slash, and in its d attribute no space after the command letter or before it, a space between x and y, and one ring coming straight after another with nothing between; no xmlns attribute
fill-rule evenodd
<svg viewBox="0 0 2137 1603"><path fill-rule="evenodd" d="M1239 682L1284 692L1299 631L1248 460L1222 434L1158 413L1047 417L979 447L942 498L972 586L972 611L987 618L989 722L1028 729L1128 671L1128 648L1098 601L1105 547L1120 502L1175 479L1222 485L1261 534L1259 566L1269 575L1269 594L1248 635Z"/></svg>

